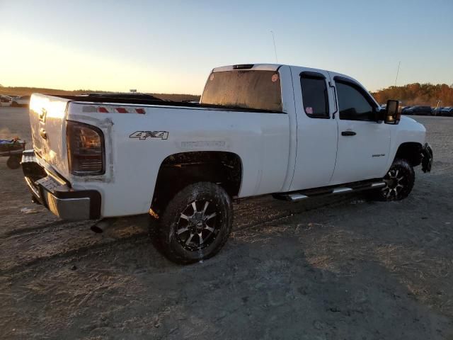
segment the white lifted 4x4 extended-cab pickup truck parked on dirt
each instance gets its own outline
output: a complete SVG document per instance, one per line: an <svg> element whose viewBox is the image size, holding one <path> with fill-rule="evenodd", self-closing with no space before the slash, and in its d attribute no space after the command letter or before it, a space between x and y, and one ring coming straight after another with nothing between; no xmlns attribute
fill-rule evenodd
<svg viewBox="0 0 453 340"><path fill-rule="evenodd" d="M33 94L30 123L22 166L36 202L67 220L154 215L179 263L222 248L236 198L400 200L413 167L432 164L425 128L398 101L382 110L355 79L280 64L213 69L200 103Z"/></svg>

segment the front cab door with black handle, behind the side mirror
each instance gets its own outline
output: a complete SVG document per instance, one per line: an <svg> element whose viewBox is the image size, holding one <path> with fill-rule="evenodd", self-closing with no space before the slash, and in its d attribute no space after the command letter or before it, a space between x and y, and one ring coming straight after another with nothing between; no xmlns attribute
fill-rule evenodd
<svg viewBox="0 0 453 340"><path fill-rule="evenodd" d="M389 125L377 122L372 96L352 79L331 74L338 97L338 152L331 184L382 178L389 159Z"/></svg>

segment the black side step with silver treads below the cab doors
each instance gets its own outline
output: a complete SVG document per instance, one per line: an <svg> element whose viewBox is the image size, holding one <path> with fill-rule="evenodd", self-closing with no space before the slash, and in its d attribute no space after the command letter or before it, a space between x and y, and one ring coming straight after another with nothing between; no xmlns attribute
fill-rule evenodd
<svg viewBox="0 0 453 340"><path fill-rule="evenodd" d="M386 186L384 181L374 182L357 182L350 183L348 186L336 186L326 188L315 188L302 191L293 191L291 193L275 193L273 196L279 200L289 200L297 202L306 198L314 198L320 196L336 195L338 193L352 193L357 191L369 190L374 188L382 188Z"/></svg>

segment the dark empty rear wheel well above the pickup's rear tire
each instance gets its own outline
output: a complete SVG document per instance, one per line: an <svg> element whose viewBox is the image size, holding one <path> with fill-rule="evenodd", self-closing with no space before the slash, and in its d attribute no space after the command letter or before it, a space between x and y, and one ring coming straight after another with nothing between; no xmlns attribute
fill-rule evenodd
<svg viewBox="0 0 453 340"><path fill-rule="evenodd" d="M197 182L222 186L229 196L239 195L242 181L241 158L232 152L181 152L166 157L157 175L151 208L159 212L173 196Z"/></svg>

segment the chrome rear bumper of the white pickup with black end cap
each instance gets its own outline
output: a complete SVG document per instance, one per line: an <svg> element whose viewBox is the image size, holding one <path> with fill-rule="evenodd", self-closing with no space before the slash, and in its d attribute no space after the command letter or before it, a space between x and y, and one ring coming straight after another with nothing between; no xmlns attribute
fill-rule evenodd
<svg viewBox="0 0 453 340"><path fill-rule="evenodd" d="M74 191L68 181L46 171L33 150L22 155L25 182L35 201L63 220L97 220L101 217L101 194L94 190Z"/></svg>

